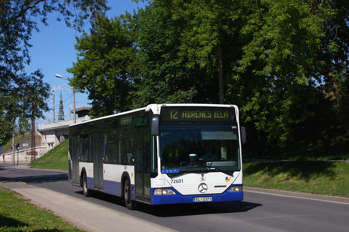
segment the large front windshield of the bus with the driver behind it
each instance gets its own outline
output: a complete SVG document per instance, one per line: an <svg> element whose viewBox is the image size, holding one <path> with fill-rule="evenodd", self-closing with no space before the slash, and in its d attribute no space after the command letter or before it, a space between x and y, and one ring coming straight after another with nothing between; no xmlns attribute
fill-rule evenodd
<svg viewBox="0 0 349 232"><path fill-rule="evenodd" d="M240 171L237 123L161 123L161 172Z"/></svg>

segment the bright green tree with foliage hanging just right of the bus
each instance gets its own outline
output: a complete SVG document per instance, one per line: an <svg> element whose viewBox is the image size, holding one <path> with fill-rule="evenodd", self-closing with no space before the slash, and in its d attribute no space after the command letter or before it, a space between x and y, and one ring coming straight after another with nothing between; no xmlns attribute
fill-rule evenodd
<svg viewBox="0 0 349 232"><path fill-rule="evenodd" d="M259 144L282 144L292 138L296 119L312 115L304 106L317 92L311 58L316 45L303 27L309 11L302 2L283 0L254 1L248 9L239 29L243 54L229 81L230 97L241 101L242 117L254 126Z"/></svg>

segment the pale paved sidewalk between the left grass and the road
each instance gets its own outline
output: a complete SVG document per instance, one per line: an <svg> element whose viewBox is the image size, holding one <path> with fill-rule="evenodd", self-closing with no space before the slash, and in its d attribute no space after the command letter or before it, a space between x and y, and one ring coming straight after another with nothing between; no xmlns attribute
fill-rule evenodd
<svg viewBox="0 0 349 232"><path fill-rule="evenodd" d="M52 210L68 222L91 232L176 232L119 211L96 205L49 189L29 186L23 182L0 183L28 199Z"/></svg>

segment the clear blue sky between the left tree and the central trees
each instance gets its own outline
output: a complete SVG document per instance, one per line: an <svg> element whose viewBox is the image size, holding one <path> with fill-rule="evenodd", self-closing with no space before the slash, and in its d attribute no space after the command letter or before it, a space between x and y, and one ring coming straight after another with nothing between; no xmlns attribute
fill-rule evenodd
<svg viewBox="0 0 349 232"><path fill-rule="evenodd" d="M112 7L107 12L109 17L119 16L124 14L125 11L133 12L133 9L144 8L147 3L140 2L136 4L131 0L111 0L109 6ZM26 68L27 73L34 72L37 69L41 69L44 77L44 82L50 85L68 85L68 81L60 78L56 78L55 74L60 74L64 78L72 77L72 74L66 71L67 68L72 67L72 62L76 61L76 50L74 44L76 43L75 35L80 34L72 27L66 27L64 22L57 22L58 13L52 13L49 15L49 26L39 24L40 32L34 31L30 43L33 47L30 49L31 63ZM85 30L88 31L89 26L86 26ZM55 91L55 113L58 113L58 105L60 92ZM64 112L68 113L68 105L73 103L72 91L62 91L62 99ZM47 104L52 108L52 99L47 99ZM76 93L75 104L89 104L86 94ZM72 110L72 109L71 109ZM52 110L50 112L52 113ZM47 118L52 120L52 117ZM65 119L69 119L66 117ZM57 121L57 118L56 120ZM43 123L40 122L39 123Z"/></svg>

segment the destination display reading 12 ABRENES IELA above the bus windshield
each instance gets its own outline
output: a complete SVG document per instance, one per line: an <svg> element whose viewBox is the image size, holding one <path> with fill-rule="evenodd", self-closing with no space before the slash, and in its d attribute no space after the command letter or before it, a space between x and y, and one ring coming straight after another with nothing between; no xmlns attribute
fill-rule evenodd
<svg viewBox="0 0 349 232"><path fill-rule="evenodd" d="M163 106L162 122L235 122L234 107Z"/></svg>

